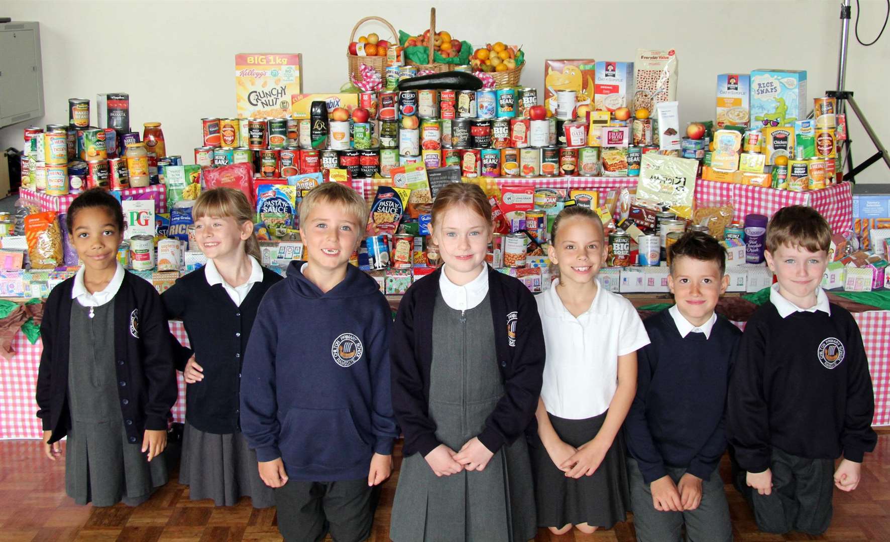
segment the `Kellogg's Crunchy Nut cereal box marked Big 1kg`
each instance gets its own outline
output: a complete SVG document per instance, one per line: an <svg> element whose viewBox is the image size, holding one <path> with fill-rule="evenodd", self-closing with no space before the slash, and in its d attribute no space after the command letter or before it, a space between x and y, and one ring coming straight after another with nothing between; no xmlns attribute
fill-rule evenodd
<svg viewBox="0 0 890 542"><path fill-rule="evenodd" d="M289 117L290 97L303 92L302 54L235 55L235 99L238 116Z"/></svg>

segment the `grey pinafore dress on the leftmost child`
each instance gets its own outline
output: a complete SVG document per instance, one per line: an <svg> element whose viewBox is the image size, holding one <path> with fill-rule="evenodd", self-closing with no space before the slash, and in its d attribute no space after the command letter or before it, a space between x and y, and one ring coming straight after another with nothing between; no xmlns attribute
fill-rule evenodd
<svg viewBox="0 0 890 542"><path fill-rule="evenodd" d="M114 304L71 303L68 399L71 428L65 450L65 490L78 505L137 506L167 481L162 453L149 463L142 438L130 443L117 403Z"/></svg>

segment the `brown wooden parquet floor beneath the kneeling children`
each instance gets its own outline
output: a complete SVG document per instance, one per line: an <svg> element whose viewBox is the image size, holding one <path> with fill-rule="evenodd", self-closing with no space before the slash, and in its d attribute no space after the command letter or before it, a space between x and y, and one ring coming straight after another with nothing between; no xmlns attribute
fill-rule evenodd
<svg viewBox="0 0 890 542"><path fill-rule="evenodd" d="M401 464L396 449L396 467ZM721 465L724 481L729 463ZM377 509L371 540L389 540L389 518L398 470L386 481ZM76 506L65 496L64 464L52 463L36 441L0 441L0 542L64 542L114 540L117 542L238 542L280 540L274 508L255 510L247 498L238 506L214 507L210 500L189 500L189 489L171 481L135 508ZM760 533L740 494L726 486L737 542L780 540L871 540L890 542L890 434L883 433L878 448L867 454L862 483L853 493L835 491L834 521L822 537L802 533L786 536ZM328 538L329 539L329 538ZM574 530L561 537L547 530L538 541L635 540L633 520L614 529L584 535Z"/></svg>

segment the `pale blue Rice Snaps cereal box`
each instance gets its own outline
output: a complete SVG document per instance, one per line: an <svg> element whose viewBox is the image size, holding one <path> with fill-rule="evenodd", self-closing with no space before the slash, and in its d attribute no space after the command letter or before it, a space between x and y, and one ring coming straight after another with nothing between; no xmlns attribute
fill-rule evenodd
<svg viewBox="0 0 890 542"><path fill-rule="evenodd" d="M806 118L806 71L755 69L751 72L752 128L793 126Z"/></svg>

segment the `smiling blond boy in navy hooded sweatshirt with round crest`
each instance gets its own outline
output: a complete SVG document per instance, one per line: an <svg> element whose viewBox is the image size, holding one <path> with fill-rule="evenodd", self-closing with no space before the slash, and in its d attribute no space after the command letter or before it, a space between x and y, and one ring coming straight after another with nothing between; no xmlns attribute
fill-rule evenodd
<svg viewBox="0 0 890 542"><path fill-rule="evenodd" d="M364 200L336 182L303 198L307 262L269 288L247 343L241 428L288 541L367 539L374 489L392 473L392 312L349 264L365 216Z"/></svg>

